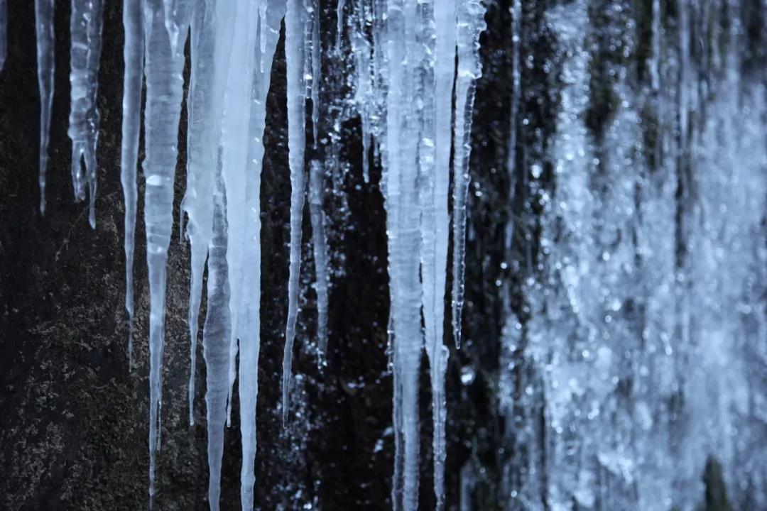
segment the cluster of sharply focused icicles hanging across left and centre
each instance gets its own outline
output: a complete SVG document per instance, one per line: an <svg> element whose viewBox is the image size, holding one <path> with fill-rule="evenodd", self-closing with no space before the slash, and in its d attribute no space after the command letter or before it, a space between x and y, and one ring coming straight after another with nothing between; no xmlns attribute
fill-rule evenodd
<svg viewBox="0 0 767 511"><path fill-rule="evenodd" d="M253 507L256 396L260 346L260 176L266 96L272 61L285 23L291 242L288 322L285 327L283 416L288 418L291 353L298 313L301 217L304 208L305 101L312 100L317 139L320 84L318 0L141 0L123 4L124 89L121 181L125 198L126 307L133 337L133 237L141 91L146 84L144 221L150 280L150 501L160 447L163 323L167 251L173 228L173 179L183 97L183 48L189 37L191 80L187 103L186 237L191 245L189 294L191 363L189 421L193 421L195 344L207 264L207 314L202 332L206 362L209 502L219 509L224 424L232 386L239 380L242 433L242 509ZM90 198L95 226L97 74L104 0L71 2L72 182L77 199ZM453 329L459 342L463 302L463 244L474 83L479 76L479 0L357 0L348 11L354 50L356 99L364 139L364 179L370 158L380 160L387 211L390 333L396 466L393 506L416 509L418 500L418 371L423 346L430 361L434 421L434 491L443 507L446 457L443 344L448 192L453 154ZM344 2L338 7L339 38ZM41 95L40 191L45 169L54 76L54 0L35 0ZM0 68L5 60L5 0L0 0ZM456 59L457 57L457 59ZM457 64L456 64L457 61ZM455 94L456 120L453 122ZM371 147L371 141L373 142ZM309 198L318 274L318 346L327 349L328 255L321 211L321 165L311 165ZM184 229L182 222L182 230ZM425 328L421 327L421 313ZM129 353L132 363L132 341ZM235 362L239 353L239 365ZM322 361L321 361L322 363ZM239 371L238 375L235 372Z"/></svg>

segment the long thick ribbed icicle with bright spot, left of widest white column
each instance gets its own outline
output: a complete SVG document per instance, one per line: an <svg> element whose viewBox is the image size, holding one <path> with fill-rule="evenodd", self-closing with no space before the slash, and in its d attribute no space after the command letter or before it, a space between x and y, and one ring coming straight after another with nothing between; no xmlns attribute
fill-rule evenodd
<svg viewBox="0 0 767 511"><path fill-rule="evenodd" d="M173 228L173 178L183 97L184 57L170 48L160 0L144 5L146 47L146 159L143 172L146 263L150 282L150 505L155 486L155 454L162 404L163 335L168 245ZM186 13L181 13L186 15ZM185 26L185 18L179 18ZM183 30L186 36L186 28ZM183 47L183 46L182 46Z"/></svg>

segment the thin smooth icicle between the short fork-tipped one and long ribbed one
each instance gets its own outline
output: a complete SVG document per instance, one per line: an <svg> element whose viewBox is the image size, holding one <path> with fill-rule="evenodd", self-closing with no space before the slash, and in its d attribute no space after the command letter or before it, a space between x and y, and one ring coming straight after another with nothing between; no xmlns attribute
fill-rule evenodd
<svg viewBox="0 0 767 511"><path fill-rule="evenodd" d="M128 312L128 365L133 366L133 251L136 235L136 172L141 129L141 84L143 80L143 12L141 2L123 7L123 140L120 151L120 182L125 201L125 309Z"/></svg>

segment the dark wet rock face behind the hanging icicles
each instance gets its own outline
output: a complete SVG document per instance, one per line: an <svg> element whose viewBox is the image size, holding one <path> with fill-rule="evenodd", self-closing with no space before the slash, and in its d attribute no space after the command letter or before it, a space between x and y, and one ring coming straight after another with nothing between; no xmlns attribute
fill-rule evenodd
<svg viewBox="0 0 767 511"><path fill-rule="evenodd" d="M320 136L316 147L308 144L306 159L324 162L327 174L324 211L328 215L331 249L328 365L319 370L316 364L317 308L306 208L295 383L290 422L288 428L283 428L280 401L288 307L290 179L285 52L281 42L268 96L262 175L262 349L255 501L260 509L391 509L392 375L387 359L389 290L386 215L378 189L381 171L379 165L374 165L370 184L362 179L361 126L351 113L347 83L346 67L353 58L345 53L348 47L335 49L336 2L320 3L322 46L327 54L322 68ZM346 3L347 11L351 11L354 2ZM532 341L526 332L532 330L530 324L536 313L545 315L532 304L531 288L535 287L531 283L551 285L546 281L543 263L551 248L547 245L554 236L551 232L556 231L544 225L546 201L556 197L559 185L551 147L558 134L558 115L562 113L565 85L561 74L565 61L573 57L572 48L563 50L558 41L565 36L573 38L573 34L559 33L550 11L562 5L570 8L586 4L522 2L520 25L525 51L520 55L522 69L518 77L522 94L513 125L515 165L509 174L510 90L515 81L515 43L509 28L517 2L488 3L488 30L482 35L483 76L477 84L472 136L464 343L460 350L449 346L447 370L446 509L518 509L510 499L511 488L529 476L525 469L528 465L522 462L533 466L538 463L531 461L535 456L544 464L538 475L540 509L551 509L546 478L558 467L545 467L544 459L546 435L550 432L547 428L551 425L547 423L550 417L542 391L547 375L528 354L528 342ZM670 39L676 34L679 2L660 3L662 24ZM740 72L764 80L767 46L763 21L767 9L755 0L722 3L736 5L741 18L747 21L741 27L742 40L752 49L742 54ZM88 226L87 204L72 200L71 142L67 137L69 2L57 2L55 13L55 94L44 217L38 212L39 98L34 5L19 0L8 6L8 57L0 74L2 509L133 511L148 506L149 296L141 210L143 178L139 179L136 236L136 364L130 370L119 169L123 28L120 2L105 4L95 230ZM589 143L598 150L609 149L606 133L618 110L618 75L637 89L650 83L647 60L652 51L651 4L645 0L588 3L588 24L599 28L593 32L599 37L593 37L584 50L589 53L590 87L583 122ZM601 27L612 27L614 32L606 28L601 31ZM633 45L625 44L631 46L630 52L621 53L625 49L621 38L627 38L622 30L628 28L636 40L631 41ZM669 57L669 61L669 69L675 70L673 58ZM621 73L616 74L616 69ZM671 74L670 70L663 72ZM177 211L186 182L185 115L179 129L181 163L176 169L174 233L179 231ZM653 160L658 143L653 130L658 121L650 106L638 115L646 133L641 134L644 145L637 153L647 159L647 168L654 172L660 168ZM311 128L307 139L311 142ZM637 142L637 146L641 144ZM594 182L595 186L600 184L598 175ZM683 198L676 200L672 217L675 213L685 214ZM678 218L669 218L672 226L676 221ZM514 236L507 239L510 224ZM545 229L549 229L546 235ZM764 231L767 228L762 221L760 235ZM683 258L690 247L679 238L674 238L672 251L677 258ZM189 427L189 251L177 237L170 247L168 275L156 509L209 509L203 399L206 375L200 344L195 368L196 424ZM763 297L760 304L763 310ZM204 318L204 311L200 317ZM509 317L518 320L525 332L518 344L510 345L506 339L508 332L503 327ZM503 382L504 375L509 376L505 388L509 395L505 398L512 401L511 411L499 411L499 401L504 398L499 382ZM615 395L631 384L621 385ZM528 388L532 404L525 397ZM683 401L683 396L679 399ZM236 402L235 398L232 427L225 436L222 509L240 509ZM434 507L430 414L424 357L420 385L420 509ZM536 443L544 446L543 452L535 451ZM763 460L756 461L759 463L763 467ZM732 509L727 498L728 494L732 498L732 491L725 490L722 468L715 460L706 465L705 484L707 491L704 494L701 488L700 500L705 500L707 510ZM530 487L528 492L532 491ZM633 490L626 493L634 494ZM742 497L741 501L761 502L754 496ZM690 503L680 506L689 508Z"/></svg>

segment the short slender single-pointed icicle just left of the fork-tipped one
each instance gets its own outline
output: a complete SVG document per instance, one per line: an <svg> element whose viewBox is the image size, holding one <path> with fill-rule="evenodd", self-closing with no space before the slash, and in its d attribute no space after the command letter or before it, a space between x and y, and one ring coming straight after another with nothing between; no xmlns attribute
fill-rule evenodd
<svg viewBox="0 0 767 511"><path fill-rule="evenodd" d="M2 9L2 7L0 7ZM38 38L38 87L40 89L40 213L45 215L45 170L51 133L54 74L54 2L35 0L35 32ZM2 68L2 64L0 64Z"/></svg>

